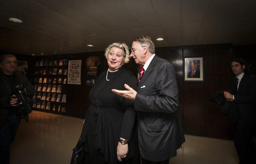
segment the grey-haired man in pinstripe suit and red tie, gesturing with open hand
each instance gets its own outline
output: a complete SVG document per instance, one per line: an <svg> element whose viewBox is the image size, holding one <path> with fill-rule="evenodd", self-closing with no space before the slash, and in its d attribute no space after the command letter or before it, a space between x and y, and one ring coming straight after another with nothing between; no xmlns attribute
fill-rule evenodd
<svg viewBox="0 0 256 164"><path fill-rule="evenodd" d="M136 37L131 50L130 56L136 64L144 65L137 90L125 84L126 91L112 91L135 101L142 164L168 164L185 142L175 70L169 61L154 54L155 47L149 36Z"/></svg>

